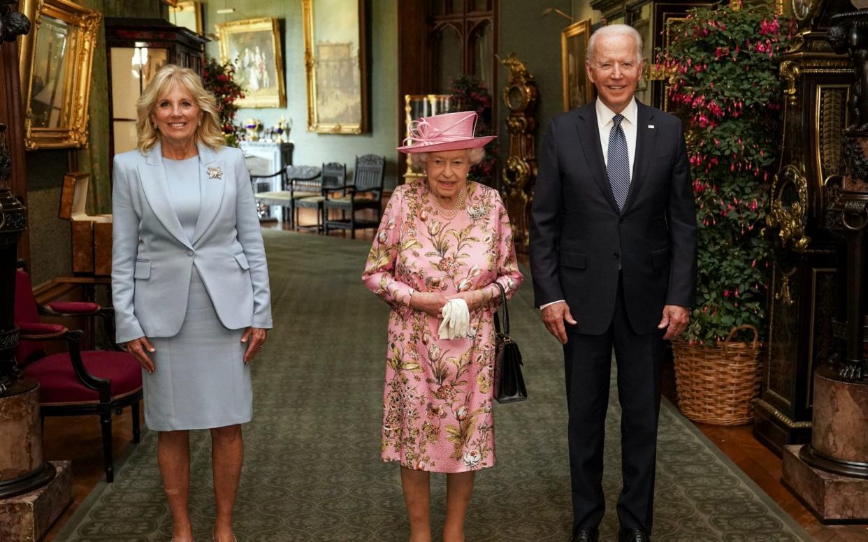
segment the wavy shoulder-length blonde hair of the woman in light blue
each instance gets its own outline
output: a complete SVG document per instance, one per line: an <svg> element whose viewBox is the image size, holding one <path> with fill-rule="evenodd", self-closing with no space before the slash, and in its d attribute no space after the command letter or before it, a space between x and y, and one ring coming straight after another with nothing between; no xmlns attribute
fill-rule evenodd
<svg viewBox="0 0 868 542"><path fill-rule="evenodd" d="M201 124L196 128L196 142L211 148L226 145L220 125L220 108L217 107L214 95L202 86L201 77L192 69L167 64L157 72L135 102L135 112L138 117L135 128L139 135L138 147L141 153L149 153L160 141L160 132L154 127L151 114L154 113L156 102L176 85L180 85L193 95L202 112Z"/></svg>

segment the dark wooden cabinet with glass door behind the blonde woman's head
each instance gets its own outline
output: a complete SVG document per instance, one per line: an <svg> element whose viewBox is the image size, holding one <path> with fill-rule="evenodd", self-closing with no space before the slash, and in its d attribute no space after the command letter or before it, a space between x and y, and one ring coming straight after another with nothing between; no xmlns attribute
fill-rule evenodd
<svg viewBox="0 0 868 542"><path fill-rule="evenodd" d="M163 19L106 17L109 153L135 148L135 101L166 64L199 73L207 38Z"/></svg>

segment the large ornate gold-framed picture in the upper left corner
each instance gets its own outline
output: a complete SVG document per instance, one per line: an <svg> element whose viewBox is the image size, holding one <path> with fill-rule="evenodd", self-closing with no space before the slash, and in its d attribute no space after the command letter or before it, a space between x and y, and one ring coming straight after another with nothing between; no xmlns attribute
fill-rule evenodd
<svg viewBox="0 0 868 542"><path fill-rule="evenodd" d="M102 14L69 0L22 0L33 22L21 37L24 145L81 148L88 144L90 72Z"/></svg>

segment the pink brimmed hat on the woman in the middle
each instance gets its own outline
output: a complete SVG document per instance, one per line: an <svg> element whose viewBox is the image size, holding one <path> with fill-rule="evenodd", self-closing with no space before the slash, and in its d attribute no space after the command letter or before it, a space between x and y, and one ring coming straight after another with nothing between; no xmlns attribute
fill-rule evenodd
<svg viewBox="0 0 868 542"><path fill-rule="evenodd" d="M485 147L496 135L473 137L478 115L473 111L436 114L412 121L402 153L431 153L453 151L459 148Z"/></svg>

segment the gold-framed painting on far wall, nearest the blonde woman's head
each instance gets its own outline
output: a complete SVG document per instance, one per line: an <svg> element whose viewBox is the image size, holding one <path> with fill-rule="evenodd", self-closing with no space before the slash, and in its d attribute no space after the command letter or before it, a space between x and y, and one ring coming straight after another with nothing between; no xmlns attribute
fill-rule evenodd
<svg viewBox="0 0 868 542"><path fill-rule="evenodd" d="M283 53L278 20L270 17L218 23L220 57L235 66L244 88L239 108L285 108Z"/></svg>

